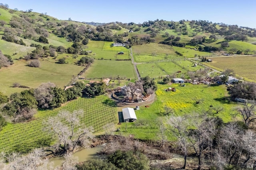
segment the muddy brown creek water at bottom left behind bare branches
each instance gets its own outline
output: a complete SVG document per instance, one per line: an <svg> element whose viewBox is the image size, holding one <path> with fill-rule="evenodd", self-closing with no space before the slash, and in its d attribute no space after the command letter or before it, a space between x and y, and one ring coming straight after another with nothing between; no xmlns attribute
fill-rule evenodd
<svg viewBox="0 0 256 170"><path fill-rule="evenodd" d="M75 152L73 156L78 157L78 162L84 162L87 159L95 158L97 152L99 152L103 148L104 148L103 146L96 146L94 148L82 149ZM64 160L65 159L62 156L59 156L59 157L52 158L50 162L53 164L53 167L56 168L57 166L61 166Z"/></svg>

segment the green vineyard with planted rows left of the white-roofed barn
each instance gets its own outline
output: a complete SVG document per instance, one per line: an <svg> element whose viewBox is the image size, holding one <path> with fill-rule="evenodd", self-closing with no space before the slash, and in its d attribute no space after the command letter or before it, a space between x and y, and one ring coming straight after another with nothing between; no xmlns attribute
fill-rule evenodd
<svg viewBox="0 0 256 170"><path fill-rule="evenodd" d="M61 110L74 111L83 109L80 115L82 127L92 126L95 133L101 133L102 126L117 122L117 109L108 105L108 97L102 95L94 98L79 98L54 110L38 111L36 119L17 124L8 124L0 131L0 152L29 152L33 148L54 144L50 132L44 131L44 121L55 116Z"/></svg>

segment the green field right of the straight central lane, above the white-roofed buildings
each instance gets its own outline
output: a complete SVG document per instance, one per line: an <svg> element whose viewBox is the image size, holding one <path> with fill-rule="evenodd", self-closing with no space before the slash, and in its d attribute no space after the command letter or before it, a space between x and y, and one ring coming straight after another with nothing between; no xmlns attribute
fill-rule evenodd
<svg viewBox="0 0 256 170"><path fill-rule="evenodd" d="M192 67L193 63L188 60L171 60L171 61L163 61L163 62L154 62L154 63L144 63L138 64L137 68L140 73L140 76L145 77L149 76L151 78L162 77L166 75L171 75L172 73L176 73L177 71L181 71L182 73L178 73L179 77L181 74L186 74L188 71L196 71L199 69L204 69L204 67L198 65L197 67Z"/></svg>

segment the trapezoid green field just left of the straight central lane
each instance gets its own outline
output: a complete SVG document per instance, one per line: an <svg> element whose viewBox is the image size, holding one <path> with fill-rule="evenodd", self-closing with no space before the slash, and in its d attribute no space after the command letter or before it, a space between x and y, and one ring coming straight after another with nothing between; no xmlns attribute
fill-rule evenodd
<svg viewBox="0 0 256 170"><path fill-rule="evenodd" d="M101 79L106 77L119 77L135 79L134 67L131 61L94 60L84 73L84 77Z"/></svg>

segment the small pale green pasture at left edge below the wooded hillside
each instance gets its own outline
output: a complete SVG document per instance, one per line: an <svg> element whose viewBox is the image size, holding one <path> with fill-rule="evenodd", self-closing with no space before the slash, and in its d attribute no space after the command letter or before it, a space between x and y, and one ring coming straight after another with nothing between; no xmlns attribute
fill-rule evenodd
<svg viewBox="0 0 256 170"><path fill-rule="evenodd" d="M17 53L17 55L12 56L13 59L23 57L27 53L31 53L31 51L33 51L34 49L36 48L0 40L0 50L2 51L3 54L12 55L13 53Z"/></svg>

